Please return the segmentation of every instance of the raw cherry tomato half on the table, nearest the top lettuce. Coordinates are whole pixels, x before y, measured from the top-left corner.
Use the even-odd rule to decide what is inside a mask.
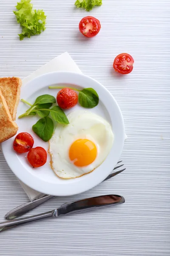
[[[86,37],[96,36],[101,29],[99,20],[92,16],[82,18],[79,23],[79,31]]]

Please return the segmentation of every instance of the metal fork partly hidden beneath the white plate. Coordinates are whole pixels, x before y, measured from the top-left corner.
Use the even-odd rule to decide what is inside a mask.
[[[121,162],[122,161],[119,161],[118,163],[121,163]],[[116,166],[113,170],[116,170],[116,169],[118,169],[118,168],[120,168],[122,166],[124,166],[124,164]],[[111,173],[110,175],[108,175],[107,178],[105,178],[105,180],[111,179],[112,177],[114,177],[114,176],[118,175],[119,173],[125,171],[125,169],[126,168],[124,168],[124,169],[122,169],[120,171]],[[105,181],[105,180],[103,180],[103,181]],[[36,199],[36,200],[28,202],[26,204],[22,204],[22,205],[20,205],[20,206],[18,206],[16,208],[12,209],[11,211],[7,212],[6,215],[5,215],[5,218],[6,218],[6,220],[11,220],[11,219],[17,218],[17,217],[25,214],[26,212],[29,212],[32,209],[36,208],[40,204],[45,203],[46,201],[48,201],[49,199],[51,199],[53,197],[54,197],[54,195],[45,195],[42,198]]]

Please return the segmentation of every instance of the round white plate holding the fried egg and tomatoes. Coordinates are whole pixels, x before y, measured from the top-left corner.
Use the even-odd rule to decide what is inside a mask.
[[[48,155],[47,163],[40,168],[32,168],[27,162],[27,153],[17,154],[13,150],[14,137],[2,143],[2,151],[8,163],[8,166],[17,177],[22,180],[26,185],[30,186],[39,192],[49,195],[68,196],[76,195],[93,188],[101,183],[113,170],[114,166],[121,156],[124,139],[125,129],[122,113],[116,100],[111,93],[102,86],[99,82],[91,79],[88,76],[71,72],[54,72],[48,73],[35,78],[28,82],[21,90],[21,99],[25,99],[31,104],[35,99],[42,94],[51,94],[57,96],[58,89],[48,89],[49,85],[62,84],[64,86],[72,86],[74,88],[82,89],[92,87],[99,95],[99,104],[89,111],[92,111],[100,116],[103,116],[110,122],[113,128],[114,143],[106,160],[93,172],[83,175],[82,177],[70,180],[63,180],[57,177],[52,171]],[[23,102],[19,103],[17,116],[21,115],[28,109],[28,106]],[[82,109],[81,106],[65,111],[66,114],[71,111]],[[34,138],[34,147],[42,146],[48,150],[48,143],[43,142],[32,131],[32,125],[38,120],[37,116],[25,117],[23,119],[16,119],[20,132],[28,132]]]

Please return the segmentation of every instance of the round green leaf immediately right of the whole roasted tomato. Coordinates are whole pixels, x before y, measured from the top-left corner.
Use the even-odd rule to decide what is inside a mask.
[[[83,108],[94,108],[99,103],[99,96],[93,88],[85,88],[79,92],[79,104]]]

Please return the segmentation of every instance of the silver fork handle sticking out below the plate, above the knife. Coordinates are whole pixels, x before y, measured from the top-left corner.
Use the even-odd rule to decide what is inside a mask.
[[[12,220],[14,218],[17,218],[26,212],[31,211],[32,209],[36,208],[40,204],[43,204],[44,202],[48,201],[49,199],[53,198],[53,195],[46,195],[42,198],[39,198],[37,200],[28,202],[26,204],[22,204],[15,209],[11,210],[10,212],[7,212],[5,215],[6,220]]]

